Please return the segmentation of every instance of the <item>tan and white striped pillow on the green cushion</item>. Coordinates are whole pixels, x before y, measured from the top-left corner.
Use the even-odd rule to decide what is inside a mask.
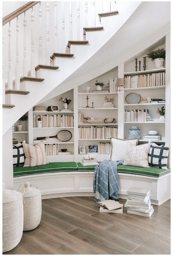
[[[40,141],[34,146],[23,143],[23,149],[26,157],[24,167],[48,164],[43,141]]]

